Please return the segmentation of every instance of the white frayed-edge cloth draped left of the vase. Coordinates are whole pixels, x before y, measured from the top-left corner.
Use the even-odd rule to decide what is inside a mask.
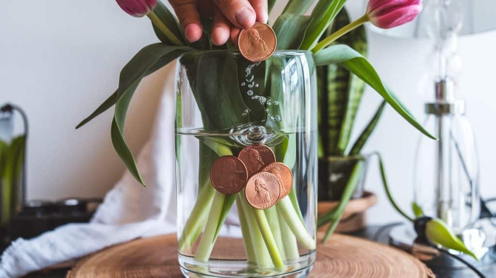
[[[114,244],[176,230],[174,64],[163,69],[166,87],[154,130],[138,156],[147,187],[126,171],[90,223],[67,224],[30,240],[12,242],[1,256],[0,278],[22,277]]]

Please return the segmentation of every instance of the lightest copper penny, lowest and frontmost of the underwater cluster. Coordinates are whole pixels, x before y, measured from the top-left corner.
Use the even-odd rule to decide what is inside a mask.
[[[259,172],[252,175],[245,188],[248,203],[255,209],[264,210],[272,207],[279,201],[281,185],[277,178],[268,172]]]

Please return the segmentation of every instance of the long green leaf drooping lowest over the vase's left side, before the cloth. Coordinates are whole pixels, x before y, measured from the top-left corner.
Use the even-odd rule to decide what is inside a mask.
[[[162,43],[152,44],[140,50],[121,71],[117,90],[118,101],[111,128],[112,143],[129,172],[143,185],[145,182],[141,178],[134,157],[124,140],[124,120],[127,108],[136,87],[148,71],[161,68],[186,50],[187,48],[184,47],[173,47]]]

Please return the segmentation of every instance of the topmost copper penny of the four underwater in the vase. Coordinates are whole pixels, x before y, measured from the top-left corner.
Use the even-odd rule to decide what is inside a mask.
[[[249,145],[241,150],[238,158],[243,161],[248,169],[248,176],[258,172],[263,167],[276,162],[276,156],[265,145]]]

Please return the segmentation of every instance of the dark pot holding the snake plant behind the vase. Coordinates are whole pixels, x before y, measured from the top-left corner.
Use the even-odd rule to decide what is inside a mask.
[[[348,183],[353,168],[359,161],[364,161],[361,177],[352,198],[364,194],[369,156],[326,157],[318,161],[318,201],[339,201]]]

